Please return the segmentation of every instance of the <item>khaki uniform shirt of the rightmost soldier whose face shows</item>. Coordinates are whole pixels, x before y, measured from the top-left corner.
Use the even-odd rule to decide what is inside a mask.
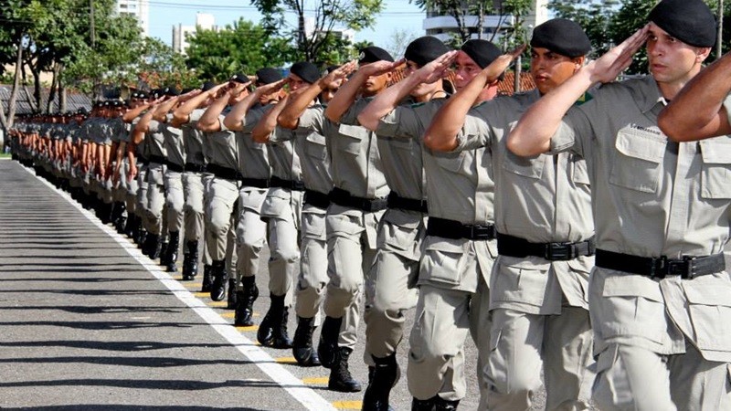
[[[669,142],[657,127],[665,100],[652,77],[607,84],[593,97],[567,113],[551,144],[587,159],[597,247],[641,257],[723,252],[731,138]],[[731,361],[726,271],[696,279],[610,269],[592,276],[597,352],[619,342],[683,353],[684,334],[705,359]]]

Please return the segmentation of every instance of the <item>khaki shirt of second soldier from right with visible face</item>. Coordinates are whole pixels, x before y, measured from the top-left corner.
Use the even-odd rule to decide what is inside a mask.
[[[457,151],[488,146],[493,152],[495,226],[499,233],[532,243],[585,241],[594,235],[587,163],[576,153],[518,157],[507,133],[536,100],[538,90],[498,97],[471,109],[458,135]],[[588,273],[593,257],[550,261],[500,256],[493,274],[490,308],[559,314],[562,297],[588,309]]]

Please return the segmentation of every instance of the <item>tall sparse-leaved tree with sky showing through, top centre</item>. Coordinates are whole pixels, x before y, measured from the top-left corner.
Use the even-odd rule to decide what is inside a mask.
[[[334,33],[335,25],[354,30],[372,27],[383,10],[383,0],[251,0],[264,16],[262,26],[271,36],[287,39],[296,45],[290,61],[332,62],[340,58],[339,48],[347,42]],[[296,16],[296,26],[288,25],[285,15]],[[307,17],[313,19],[307,29]]]

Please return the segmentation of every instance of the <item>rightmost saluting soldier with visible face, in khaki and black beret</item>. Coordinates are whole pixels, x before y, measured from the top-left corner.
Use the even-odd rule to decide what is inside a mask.
[[[662,0],[650,23],[525,112],[521,156],[586,158],[597,232],[589,283],[601,409],[727,409],[731,279],[726,137],[669,142],[668,100],[702,68],[715,19],[700,0]],[[614,80],[644,43],[652,76]],[[574,102],[597,82],[593,100]]]

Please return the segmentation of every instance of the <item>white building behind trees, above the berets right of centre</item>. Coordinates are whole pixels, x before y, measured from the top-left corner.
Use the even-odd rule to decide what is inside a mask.
[[[500,0],[495,0],[495,3],[499,3]],[[471,37],[478,38],[479,26],[478,16],[465,16],[464,25],[470,28]],[[530,35],[530,28],[540,25],[541,23],[548,20],[548,0],[534,0],[532,11],[528,16],[525,16],[525,27],[529,29],[528,35]],[[484,16],[482,20],[482,38],[490,40],[493,38],[493,33],[497,32],[498,35],[494,41],[500,38],[500,32],[505,27],[514,25],[514,16]],[[429,9],[427,10],[427,18],[424,19],[423,28],[426,30],[428,36],[434,36],[442,41],[450,40],[452,34],[459,32],[459,26],[457,20],[452,16],[445,16],[439,12],[439,10]]]

